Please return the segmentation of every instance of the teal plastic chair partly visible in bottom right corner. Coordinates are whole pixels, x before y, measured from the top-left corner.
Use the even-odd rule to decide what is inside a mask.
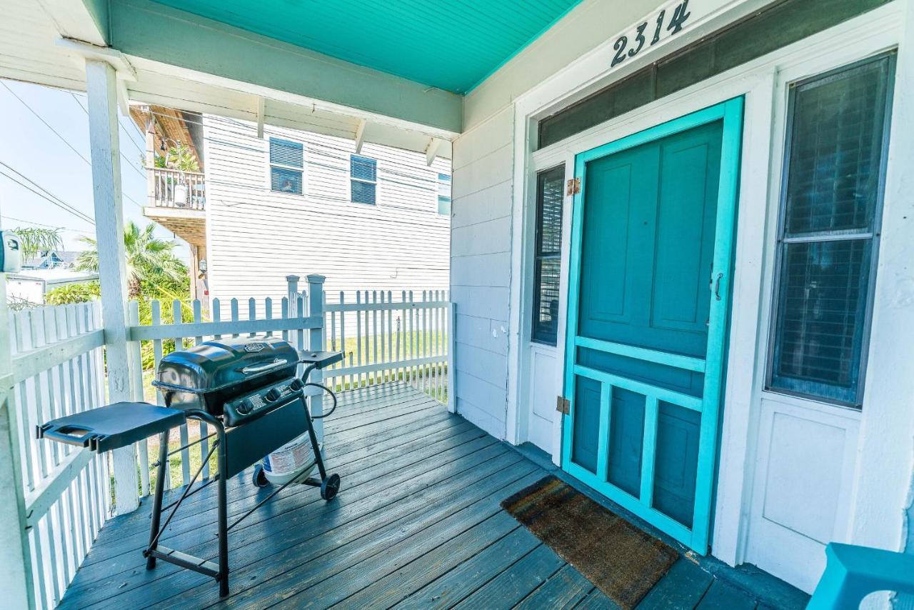
[[[858,608],[876,591],[914,594],[914,555],[832,542],[825,572],[806,610]]]

